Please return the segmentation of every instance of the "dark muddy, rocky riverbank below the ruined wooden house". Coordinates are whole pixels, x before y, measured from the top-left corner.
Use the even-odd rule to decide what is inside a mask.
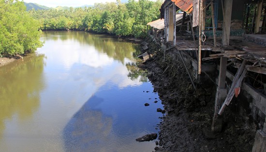
[[[139,67],[148,70],[167,111],[160,124],[160,144],[163,152],[250,152],[254,142],[256,122],[238,115],[234,106],[222,115],[220,132],[211,132],[216,86],[211,82],[196,83],[194,90],[175,50],[166,51],[147,39],[148,54],[153,57]],[[147,51],[147,50],[146,50]],[[236,104],[236,103],[233,103]]]

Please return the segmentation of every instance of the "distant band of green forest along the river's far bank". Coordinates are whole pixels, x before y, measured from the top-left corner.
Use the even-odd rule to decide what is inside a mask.
[[[147,23],[160,16],[163,0],[129,0],[95,3],[93,7],[67,10],[30,10],[42,30],[86,30],[120,36],[144,38]]]

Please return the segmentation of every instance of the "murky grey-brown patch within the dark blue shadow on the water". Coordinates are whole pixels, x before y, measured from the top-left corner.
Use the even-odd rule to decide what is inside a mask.
[[[92,110],[90,103],[100,104],[103,98],[91,97],[73,116],[63,131],[66,152],[100,152],[96,145],[112,140],[112,117],[102,111]]]

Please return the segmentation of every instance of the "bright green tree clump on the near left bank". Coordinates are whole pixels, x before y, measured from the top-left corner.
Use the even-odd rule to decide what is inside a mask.
[[[18,0],[0,0],[0,57],[24,54],[42,46],[39,22]]]

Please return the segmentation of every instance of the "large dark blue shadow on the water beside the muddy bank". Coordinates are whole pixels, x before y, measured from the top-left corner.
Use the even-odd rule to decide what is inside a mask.
[[[147,152],[155,143],[136,138],[157,132],[160,104],[145,107],[148,97],[158,97],[150,83],[124,89],[106,84],[77,111],[63,129],[66,152]]]

